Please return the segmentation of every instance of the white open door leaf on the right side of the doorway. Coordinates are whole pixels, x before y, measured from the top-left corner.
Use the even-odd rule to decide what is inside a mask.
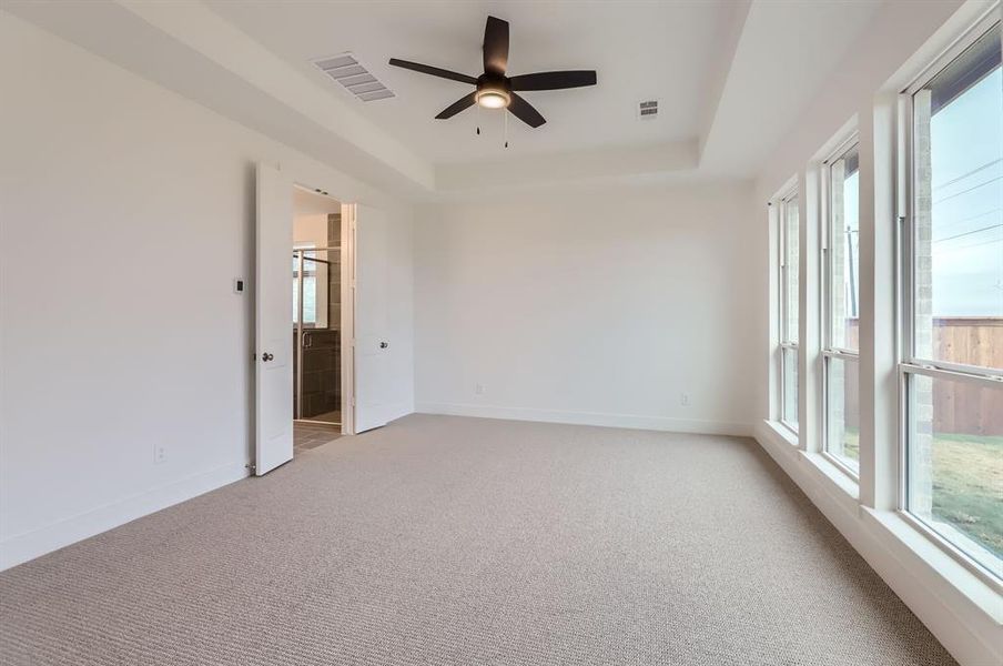
[[[376,209],[354,204],[355,232],[355,432],[389,421],[394,403],[388,332],[387,222]]]

